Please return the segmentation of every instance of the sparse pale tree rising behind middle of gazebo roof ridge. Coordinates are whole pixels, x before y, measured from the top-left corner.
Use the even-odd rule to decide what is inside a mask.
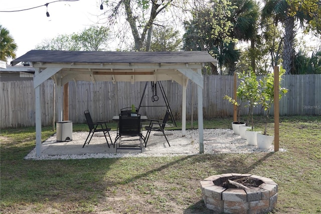
[[[157,26],[152,30],[151,51],[179,51],[181,50],[182,38],[180,32],[173,27]]]

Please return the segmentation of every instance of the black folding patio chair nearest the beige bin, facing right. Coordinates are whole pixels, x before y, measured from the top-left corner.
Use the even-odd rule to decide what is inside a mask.
[[[107,127],[107,121],[95,121],[95,122],[93,122],[88,110],[86,110],[84,112],[84,114],[85,114],[85,117],[86,117],[86,120],[87,120],[87,124],[88,124],[88,128],[89,128],[89,134],[88,134],[88,136],[86,138],[86,141],[85,141],[84,145],[82,146],[82,148],[84,148],[84,146],[86,144],[89,144],[89,142],[91,141],[91,138],[93,137],[94,133],[97,133],[97,132],[102,132],[104,134],[106,142],[107,142],[107,145],[108,145],[108,148],[110,148],[108,140],[107,140],[107,137],[106,137],[106,133],[108,133],[110,142],[112,144],[112,140],[111,140],[111,137],[110,137],[110,134],[109,134],[109,131],[111,129]],[[90,137],[89,141],[87,142],[90,134],[91,134],[91,137]]]

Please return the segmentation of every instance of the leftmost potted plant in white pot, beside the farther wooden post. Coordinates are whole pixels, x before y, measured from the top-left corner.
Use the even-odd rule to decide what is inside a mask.
[[[238,73],[238,78],[240,78],[240,74]],[[237,90],[236,90],[236,97],[239,101],[233,99],[232,97],[225,95],[223,98],[227,99],[229,102],[231,102],[232,104],[236,105],[237,108],[237,121],[233,121],[232,122],[232,129],[234,134],[236,135],[240,135],[240,131],[239,131],[239,127],[240,126],[245,126],[245,122],[241,122],[241,106],[242,106],[242,102],[243,99],[245,98],[244,96],[244,90],[243,90],[243,85],[239,85]]]

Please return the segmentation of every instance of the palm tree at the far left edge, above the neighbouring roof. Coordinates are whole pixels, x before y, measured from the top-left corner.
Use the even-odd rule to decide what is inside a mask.
[[[0,60],[7,61],[8,58],[16,58],[18,46],[10,32],[0,25]]]

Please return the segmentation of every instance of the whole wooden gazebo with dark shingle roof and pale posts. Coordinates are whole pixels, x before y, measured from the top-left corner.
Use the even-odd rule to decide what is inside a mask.
[[[31,62],[35,68],[36,153],[41,156],[40,85],[52,78],[57,85],[58,121],[63,120],[63,86],[69,81],[162,81],[172,80],[183,87],[182,135],[186,133],[186,89],[188,80],[197,84],[200,153],[203,145],[203,75],[205,63],[216,65],[206,51],[181,52],[94,52],[31,50],[13,60]],[[67,84],[68,85],[68,84]],[[66,106],[65,106],[66,108]]]

